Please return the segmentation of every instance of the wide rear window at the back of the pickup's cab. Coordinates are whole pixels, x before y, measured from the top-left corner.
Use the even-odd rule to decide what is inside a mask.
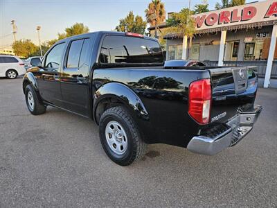
[[[159,43],[138,37],[107,35],[103,40],[102,64],[161,64],[163,53]]]

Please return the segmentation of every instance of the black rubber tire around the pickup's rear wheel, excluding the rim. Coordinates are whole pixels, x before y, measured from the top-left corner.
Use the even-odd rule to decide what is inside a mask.
[[[114,150],[111,149],[106,139],[105,130],[108,123],[112,121],[119,123],[127,135],[127,148],[122,155],[114,153]],[[141,159],[145,153],[147,144],[141,138],[134,119],[132,119],[132,116],[127,112],[125,107],[111,107],[102,114],[99,122],[99,135],[102,147],[109,158],[120,166],[132,164],[132,162]]]

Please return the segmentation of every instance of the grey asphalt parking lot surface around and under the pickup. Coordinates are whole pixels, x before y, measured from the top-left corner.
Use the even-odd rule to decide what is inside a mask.
[[[276,207],[277,89],[237,146],[213,157],[163,144],[122,167],[98,126],[48,107],[31,115],[21,78],[0,79],[0,207]]]

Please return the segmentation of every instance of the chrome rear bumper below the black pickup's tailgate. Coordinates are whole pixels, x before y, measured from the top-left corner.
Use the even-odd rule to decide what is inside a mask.
[[[224,148],[238,144],[252,130],[261,111],[262,106],[260,105],[254,105],[251,112],[240,111],[224,124],[224,131],[220,134],[193,137],[188,143],[188,150],[193,153],[215,155]]]

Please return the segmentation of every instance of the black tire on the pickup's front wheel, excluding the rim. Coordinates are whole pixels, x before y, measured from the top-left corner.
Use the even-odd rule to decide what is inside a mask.
[[[30,105],[30,103],[28,101],[29,94],[31,94],[33,96],[33,105]],[[33,89],[32,85],[26,86],[25,99],[26,99],[26,105],[31,114],[39,115],[39,114],[44,114],[46,112],[46,106],[39,102],[39,99],[37,98],[37,93],[35,92],[35,89]]]

